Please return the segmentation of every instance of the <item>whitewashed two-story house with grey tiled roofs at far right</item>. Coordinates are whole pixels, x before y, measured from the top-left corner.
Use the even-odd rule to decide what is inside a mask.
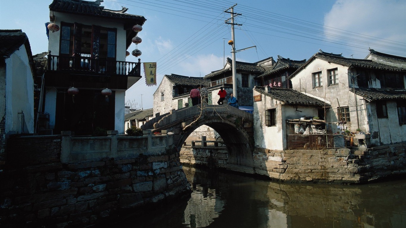
[[[289,79],[295,90],[330,103],[325,120],[337,129],[363,131],[373,145],[405,142],[406,58],[374,50],[367,58],[320,50]]]

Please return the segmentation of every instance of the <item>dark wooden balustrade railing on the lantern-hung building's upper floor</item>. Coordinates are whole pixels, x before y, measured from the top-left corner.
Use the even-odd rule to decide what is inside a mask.
[[[90,54],[54,56],[48,54],[48,71],[71,71],[104,75],[127,75],[140,77],[141,62],[125,62],[91,58]]]

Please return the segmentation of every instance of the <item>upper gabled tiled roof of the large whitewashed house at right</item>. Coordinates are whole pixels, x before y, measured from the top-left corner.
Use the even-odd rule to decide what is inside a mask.
[[[333,62],[339,65],[347,66],[347,67],[360,67],[360,68],[367,68],[367,69],[379,69],[385,71],[406,71],[406,68],[400,67],[393,67],[389,65],[385,65],[382,63],[374,62],[368,59],[356,59],[356,58],[344,58],[337,54],[326,54],[325,52],[317,52],[314,54],[307,62],[302,65],[299,69],[297,69],[291,77],[294,77],[298,72],[300,72],[304,67],[309,65],[310,62],[315,60],[315,58],[320,58],[322,60],[326,60],[327,62]]]

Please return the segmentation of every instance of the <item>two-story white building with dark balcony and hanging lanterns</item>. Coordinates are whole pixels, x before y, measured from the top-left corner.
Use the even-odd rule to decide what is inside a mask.
[[[44,113],[54,134],[89,135],[99,127],[123,134],[125,90],[140,79],[127,49],[146,21],[84,0],[50,4]],[[134,27],[134,29],[133,29]]]

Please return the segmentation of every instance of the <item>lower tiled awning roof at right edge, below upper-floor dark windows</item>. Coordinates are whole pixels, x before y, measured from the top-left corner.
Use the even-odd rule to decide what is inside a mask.
[[[351,91],[354,91],[351,89]],[[355,88],[356,95],[364,97],[368,101],[375,100],[406,100],[406,90],[389,90],[377,88]]]

